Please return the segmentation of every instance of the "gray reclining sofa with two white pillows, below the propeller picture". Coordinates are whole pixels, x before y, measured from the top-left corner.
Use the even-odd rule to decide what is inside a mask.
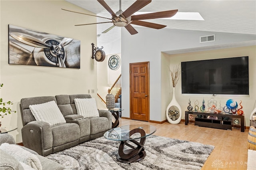
[[[98,110],[100,117],[84,118],[78,115],[74,99],[92,98],[90,95],[56,95],[30,97],[20,100],[22,117],[22,143],[25,147],[42,156],[70,148],[87,140],[103,136],[112,128],[112,114]],[[29,105],[55,101],[66,123],[50,126],[49,123],[36,121]]]

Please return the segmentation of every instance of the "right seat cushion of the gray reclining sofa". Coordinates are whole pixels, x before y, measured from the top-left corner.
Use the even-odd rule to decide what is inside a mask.
[[[97,134],[108,130],[108,118],[92,117],[90,118],[91,134]]]

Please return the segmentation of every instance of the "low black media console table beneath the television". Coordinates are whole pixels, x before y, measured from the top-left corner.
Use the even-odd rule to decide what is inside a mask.
[[[202,117],[195,117],[195,126],[200,127],[210,127],[210,128],[219,128],[219,129],[232,129],[232,118],[240,119],[240,129],[241,132],[244,132],[244,116],[243,115],[233,115],[233,114],[216,114],[216,113],[204,113],[204,112],[193,112],[185,111],[185,125],[188,125],[188,115],[202,115]],[[208,116],[216,116],[217,120],[207,119]],[[229,119],[224,119],[228,117]]]

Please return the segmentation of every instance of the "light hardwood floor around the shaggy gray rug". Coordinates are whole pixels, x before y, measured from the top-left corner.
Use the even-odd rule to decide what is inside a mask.
[[[202,170],[246,170],[247,169],[247,138],[248,129],[221,130],[214,128],[196,127],[194,123],[180,122],[177,125],[168,122],[163,124],[148,123],[130,119],[120,119],[119,126],[124,125],[154,125],[157,130],[154,135],[176,138],[209,144],[215,146],[206,160]],[[220,162],[221,167],[214,167],[212,163]],[[256,169],[256,168],[255,168]]]

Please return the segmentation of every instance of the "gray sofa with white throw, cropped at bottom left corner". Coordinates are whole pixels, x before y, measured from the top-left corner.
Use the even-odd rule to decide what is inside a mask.
[[[4,134],[0,134],[0,145],[2,143],[15,144],[15,140],[12,135],[8,133],[4,133]],[[58,164],[57,162],[54,162],[48,158],[45,158],[44,156],[37,154],[33,150],[30,150],[23,146],[20,146],[20,147],[38,157],[42,165],[42,170],[50,170],[50,169],[64,170],[65,169],[65,167],[62,166],[61,164]],[[0,160],[1,160],[0,170],[24,170],[22,164],[14,156],[8,154],[7,152],[1,149],[0,149]],[[65,169],[65,170],[68,170],[68,169]]]

